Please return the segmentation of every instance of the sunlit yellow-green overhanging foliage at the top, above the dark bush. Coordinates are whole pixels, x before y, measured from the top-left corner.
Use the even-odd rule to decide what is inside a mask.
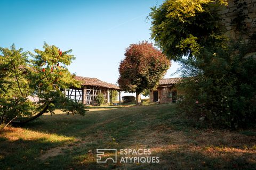
[[[213,32],[221,31],[217,11],[226,4],[210,0],[165,1],[151,8],[151,38],[171,60],[196,55],[202,46],[212,43],[209,37]]]

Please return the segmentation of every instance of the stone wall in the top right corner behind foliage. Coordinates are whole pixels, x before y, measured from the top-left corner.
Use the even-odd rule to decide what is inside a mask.
[[[243,13],[246,16],[246,19],[243,20],[243,22],[246,25],[245,28],[247,31],[237,31],[234,20],[237,18],[237,9],[239,10],[239,8],[237,8],[234,0],[228,0],[228,6],[221,8],[218,13],[221,15],[222,25],[226,28],[225,35],[233,40],[242,38],[247,43],[251,40],[251,36],[256,31],[256,0],[238,1],[238,3],[243,2],[245,2]],[[255,49],[253,50],[253,52],[256,52]]]

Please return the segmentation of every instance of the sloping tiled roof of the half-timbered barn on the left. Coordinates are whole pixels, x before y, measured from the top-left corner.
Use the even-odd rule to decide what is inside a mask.
[[[101,81],[97,78],[86,78],[81,76],[75,76],[75,79],[78,81],[81,81],[83,86],[97,86],[97,87],[105,87],[111,90],[120,90],[118,86],[107,83],[105,81]]]

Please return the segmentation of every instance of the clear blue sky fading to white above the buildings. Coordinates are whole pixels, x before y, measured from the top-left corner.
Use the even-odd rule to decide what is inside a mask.
[[[73,49],[71,73],[116,83],[130,44],[150,40],[150,7],[162,1],[0,1],[0,46],[33,51],[43,42]],[[154,42],[153,42],[154,43]],[[177,69],[172,64],[165,75]],[[175,77],[175,76],[174,76]],[[177,77],[177,75],[176,75]]]

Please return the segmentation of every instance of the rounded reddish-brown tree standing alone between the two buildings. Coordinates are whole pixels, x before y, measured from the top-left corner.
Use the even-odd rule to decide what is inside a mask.
[[[136,103],[140,94],[152,89],[169,69],[170,61],[160,50],[147,41],[131,44],[125,50],[125,58],[119,65],[118,84],[126,92],[136,92]]]

